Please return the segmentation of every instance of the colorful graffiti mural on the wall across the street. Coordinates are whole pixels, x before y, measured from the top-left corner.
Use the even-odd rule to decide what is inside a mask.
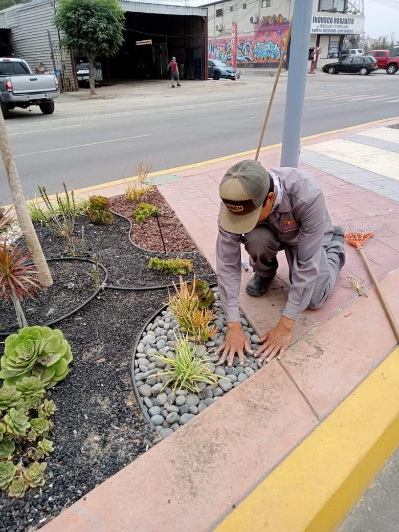
[[[284,48],[288,26],[285,16],[264,16],[255,26],[254,35],[238,35],[237,63],[277,62]],[[208,58],[231,61],[231,39],[210,39]]]

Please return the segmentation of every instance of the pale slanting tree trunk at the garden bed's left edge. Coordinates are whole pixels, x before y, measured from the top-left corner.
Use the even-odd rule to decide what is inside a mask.
[[[53,279],[50,270],[41,249],[39,239],[37,238],[35,228],[29,216],[28,205],[26,204],[21,181],[19,179],[18,170],[16,169],[15,161],[12,156],[9,136],[5,127],[3,114],[0,111],[0,152],[3,157],[3,163],[7,179],[9,180],[10,191],[16,217],[20,223],[23,236],[25,237],[29,251],[32,254],[32,261],[37,269],[37,276],[42,286],[52,286]]]

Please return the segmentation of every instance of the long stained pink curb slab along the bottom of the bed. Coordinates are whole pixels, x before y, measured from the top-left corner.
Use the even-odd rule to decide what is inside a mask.
[[[43,532],[213,529],[316,424],[273,361],[64,510]]]

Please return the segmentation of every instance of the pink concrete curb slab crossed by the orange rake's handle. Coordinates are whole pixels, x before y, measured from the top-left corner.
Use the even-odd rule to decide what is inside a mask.
[[[399,271],[381,283],[399,318]],[[345,331],[345,334],[343,334]],[[331,412],[396,345],[375,290],[310,332],[281,360],[320,418]],[[334,346],[334,348],[332,348]]]

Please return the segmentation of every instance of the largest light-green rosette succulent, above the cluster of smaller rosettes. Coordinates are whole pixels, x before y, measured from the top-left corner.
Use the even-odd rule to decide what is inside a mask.
[[[72,359],[71,346],[60,329],[24,327],[5,339],[0,379],[12,386],[24,377],[37,377],[44,389],[52,388],[68,375]],[[22,394],[29,395],[28,384],[26,390],[19,386]]]

